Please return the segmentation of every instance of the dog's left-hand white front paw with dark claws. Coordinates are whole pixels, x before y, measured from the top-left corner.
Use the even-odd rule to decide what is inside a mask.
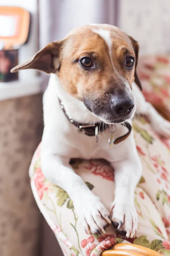
[[[74,204],[78,218],[88,234],[101,232],[105,234],[105,227],[111,224],[109,212],[94,194]]]

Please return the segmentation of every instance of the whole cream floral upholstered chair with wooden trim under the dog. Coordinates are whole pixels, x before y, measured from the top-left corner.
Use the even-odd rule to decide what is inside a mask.
[[[170,120],[170,57],[141,59],[139,74],[146,99]],[[143,166],[135,192],[138,231],[133,239],[118,236],[112,225],[104,236],[85,233],[69,195],[42,175],[41,145],[37,148],[30,166],[32,191],[65,256],[96,256],[103,251],[103,255],[170,256],[170,140],[159,138],[144,118],[133,121],[133,130]],[[74,160],[72,166],[109,209],[114,197],[111,166],[99,160]]]

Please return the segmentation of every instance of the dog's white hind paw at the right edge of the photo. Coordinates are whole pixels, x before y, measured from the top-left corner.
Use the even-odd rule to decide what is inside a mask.
[[[152,128],[153,130],[159,134],[161,137],[164,137],[166,139],[170,138],[170,122],[168,122],[164,118],[160,118],[158,122],[157,120],[154,120],[152,122]]]

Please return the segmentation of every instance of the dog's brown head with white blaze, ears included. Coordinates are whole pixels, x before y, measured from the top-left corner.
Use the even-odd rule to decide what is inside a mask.
[[[132,82],[142,90],[136,73],[138,51],[138,43],[117,27],[87,25],[48,44],[11,72],[31,68],[55,73],[65,91],[94,115],[119,123],[132,118],[136,109]]]

